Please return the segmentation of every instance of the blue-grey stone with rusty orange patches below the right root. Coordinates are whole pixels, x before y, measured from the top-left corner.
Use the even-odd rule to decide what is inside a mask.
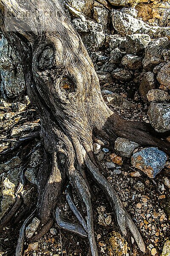
[[[167,156],[158,148],[144,148],[131,157],[133,167],[144,172],[148,177],[154,178],[167,161]]]

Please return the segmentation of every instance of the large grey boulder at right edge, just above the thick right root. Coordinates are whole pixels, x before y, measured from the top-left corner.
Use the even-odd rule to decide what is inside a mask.
[[[170,131],[170,104],[151,102],[147,114],[156,131]]]

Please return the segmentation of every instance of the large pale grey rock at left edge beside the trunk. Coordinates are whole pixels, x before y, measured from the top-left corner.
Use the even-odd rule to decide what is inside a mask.
[[[6,38],[0,40],[0,91],[4,97],[14,98],[26,91],[23,70]]]

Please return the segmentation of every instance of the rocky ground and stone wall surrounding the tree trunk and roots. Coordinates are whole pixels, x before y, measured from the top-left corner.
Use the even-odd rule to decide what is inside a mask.
[[[170,2],[67,0],[65,9],[91,55],[107,105],[123,118],[147,122],[170,141]],[[24,207],[0,236],[0,255],[14,255],[20,227],[34,208],[42,159],[40,119],[28,99],[22,67],[5,38],[0,40],[0,219],[17,201],[20,178]],[[2,152],[6,151],[6,154]],[[104,175],[141,231],[146,253],[116,227],[114,212],[91,181],[99,255],[170,255],[170,162],[157,148],[118,138],[115,151],[94,143]],[[88,177],[90,180],[90,177]],[[73,218],[62,195],[63,212]],[[78,198],[74,198],[79,207]],[[27,228],[36,232],[39,220]],[[88,243],[57,225],[24,255],[87,255]]]

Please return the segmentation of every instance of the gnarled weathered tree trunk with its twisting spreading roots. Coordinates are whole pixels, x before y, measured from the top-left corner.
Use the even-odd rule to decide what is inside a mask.
[[[13,15],[5,25],[10,28],[12,24],[15,31],[7,31],[4,23],[1,30],[20,58],[28,96],[41,119],[45,151],[38,175],[36,215],[44,224],[40,234],[48,231],[56,213],[60,226],[82,236],[87,232],[91,253],[98,255],[87,169],[111,198],[122,233],[126,236],[128,228],[144,251],[139,231],[115,190],[101,174],[93,143],[99,139],[113,147],[117,137],[125,137],[141,145],[158,146],[167,153],[169,144],[156,137],[159,134],[154,135],[150,125],[125,121],[107,107],[91,58],[59,0],[39,0],[38,4],[30,0],[27,5],[19,0],[1,0],[0,7],[3,22],[4,8]],[[29,17],[26,15],[28,7],[31,9]],[[85,221],[73,207],[74,202],[68,199],[82,227],[62,221],[59,215],[59,197],[66,177],[86,207]],[[17,251],[21,251],[18,248]]]

